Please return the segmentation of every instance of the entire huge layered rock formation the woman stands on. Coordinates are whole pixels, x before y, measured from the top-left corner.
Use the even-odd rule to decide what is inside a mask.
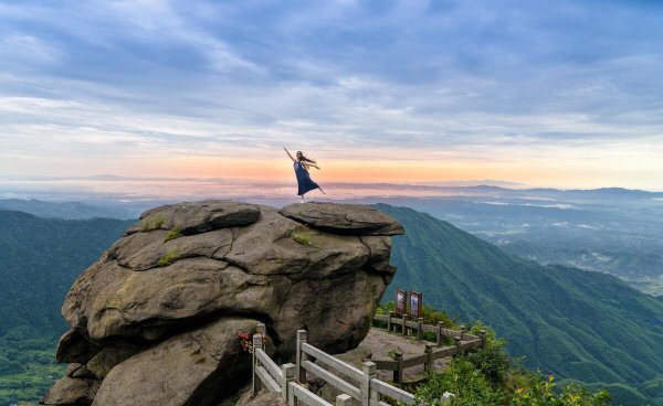
[[[239,332],[267,328],[290,360],[295,331],[329,352],[359,344],[396,269],[393,218],[365,205],[281,211],[230,201],[150,210],[72,286],[66,376],[48,405],[217,405],[250,377]]]

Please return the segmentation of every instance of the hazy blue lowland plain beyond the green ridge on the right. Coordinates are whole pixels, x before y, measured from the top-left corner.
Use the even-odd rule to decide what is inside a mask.
[[[614,275],[663,296],[663,200],[660,193],[472,189],[441,197],[369,197],[429,213],[502,249],[540,264]]]

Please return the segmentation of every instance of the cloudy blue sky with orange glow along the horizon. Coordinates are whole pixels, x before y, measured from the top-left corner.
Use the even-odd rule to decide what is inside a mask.
[[[2,1],[0,177],[663,186],[663,1]]]

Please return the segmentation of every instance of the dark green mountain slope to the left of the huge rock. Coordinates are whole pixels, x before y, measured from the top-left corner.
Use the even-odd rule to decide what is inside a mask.
[[[38,330],[49,328],[54,334],[62,333],[64,321],[57,300],[64,297],[77,273],[92,264],[129,223],[112,218],[44,218],[0,210],[0,278],[9,287],[8,295],[0,297],[2,336],[11,328],[24,325],[21,319],[30,319],[29,324]],[[21,297],[21,292],[29,293],[31,300]],[[23,307],[12,298],[21,299]],[[34,306],[40,301],[42,309]]]

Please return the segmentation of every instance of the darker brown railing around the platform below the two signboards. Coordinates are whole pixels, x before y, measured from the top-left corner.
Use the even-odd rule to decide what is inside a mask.
[[[423,364],[424,370],[428,370],[435,360],[462,354],[466,350],[482,348],[486,342],[484,330],[481,330],[478,335],[473,335],[469,334],[463,325],[461,325],[460,331],[455,331],[445,329],[442,322],[438,322],[438,325],[424,324],[423,318],[409,320],[407,314],[397,317],[393,312],[376,314],[373,320],[387,322],[389,332],[400,331],[402,335],[414,335],[418,340],[423,340],[427,332],[435,334],[434,346],[433,344],[425,344],[423,354],[403,356],[402,352],[396,351],[393,360],[373,360],[378,370],[393,371],[393,382],[397,384],[402,384],[403,370],[406,368]],[[444,336],[453,338],[454,345],[444,346]]]

